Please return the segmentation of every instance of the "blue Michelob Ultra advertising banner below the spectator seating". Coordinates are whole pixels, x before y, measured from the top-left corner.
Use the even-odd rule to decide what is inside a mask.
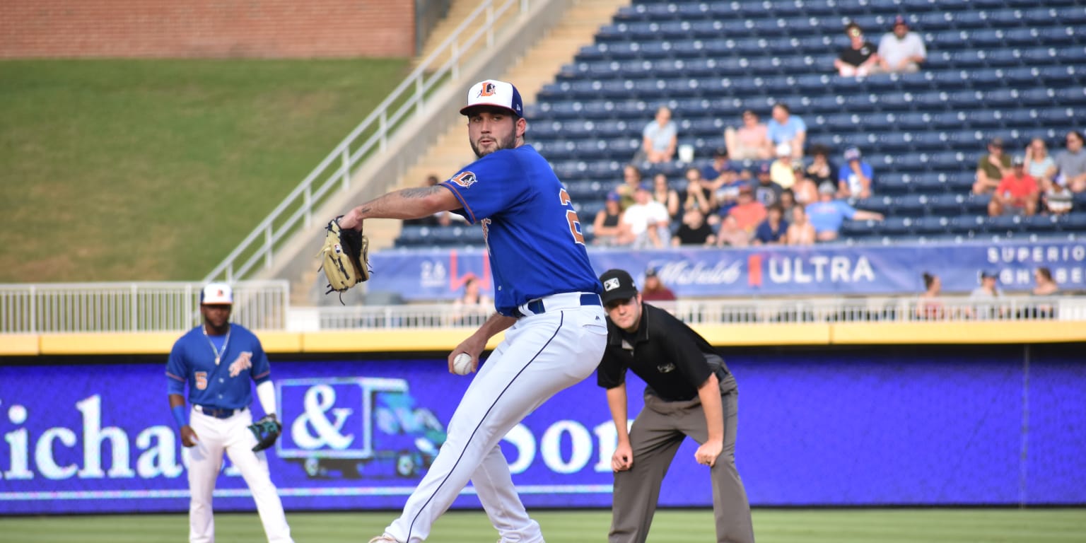
[[[968,293],[981,272],[999,275],[1005,290],[1030,290],[1033,270],[1046,266],[1064,290],[1086,288],[1086,243],[1072,241],[895,245],[681,248],[624,251],[590,248],[597,274],[623,268],[635,279],[655,267],[680,298],[797,294],[917,294],[924,272],[938,275],[946,293]],[[485,251],[383,251],[371,256],[367,288],[407,301],[456,298],[464,281],[481,279],[492,291]],[[523,263],[530,266],[530,262]]]

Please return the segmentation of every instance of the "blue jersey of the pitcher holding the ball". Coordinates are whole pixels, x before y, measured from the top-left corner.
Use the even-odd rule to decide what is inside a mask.
[[[518,305],[560,292],[599,292],[569,193],[531,146],[490,153],[442,184],[482,223],[494,276],[494,305]]]

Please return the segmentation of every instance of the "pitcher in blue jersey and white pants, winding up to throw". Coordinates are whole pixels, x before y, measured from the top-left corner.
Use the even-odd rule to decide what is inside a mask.
[[[449,422],[441,452],[403,514],[370,543],[424,541],[434,520],[471,481],[503,542],[540,543],[498,442],[556,392],[598,365],[607,341],[599,282],[581,223],[554,171],[525,144],[528,122],[517,89],[488,79],[468,89],[468,140],[476,162],[435,187],[390,192],[341,217],[416,218],[453,211],[480,224],[490,253],[496,313],[449,355],[472,368],[494,334],[505,338],[479,368]]]

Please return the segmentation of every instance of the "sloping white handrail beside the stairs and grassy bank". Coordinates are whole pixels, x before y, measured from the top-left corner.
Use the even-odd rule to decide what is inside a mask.
[[[352,173],[363,160],[384,151],[389,140],[413,112],[421,114],[427,97],[445,81],[459,77],[472,48],[485,39],[493,46],[494,23],[519,7],[528,11],[529,0],[482,0],[441,45],[430,53],[358,126],[313,168],[215,268],[204,281],[233,281],[249,277],[256,266],[270,267],[281,241],[313,223],[313,211],[324,204],[334,189],[349,190]],[[472,30],[469,33],[469,30]],[[441,65],[435,65],[445,59]],[[390,110],[395,108],[390,113]]]

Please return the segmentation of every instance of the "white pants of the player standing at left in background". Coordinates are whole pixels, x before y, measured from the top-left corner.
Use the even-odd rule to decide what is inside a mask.
[[[212,491],[223,468],[223,451],[241,471],[241,477],[253,493],[256,512],[264,525],[269,543],[293,543],[290,527],[282,512],[282,502],[268,475],[264,451],[253,452],[256,437],[249,431],[253,415],[249,409],[235,413],[229,418],[215,418],[198,409],[189,415],[189,425],[197,432],[195,446],[189,450],[189,541],[214,543],[215,518],[212,512]]]

